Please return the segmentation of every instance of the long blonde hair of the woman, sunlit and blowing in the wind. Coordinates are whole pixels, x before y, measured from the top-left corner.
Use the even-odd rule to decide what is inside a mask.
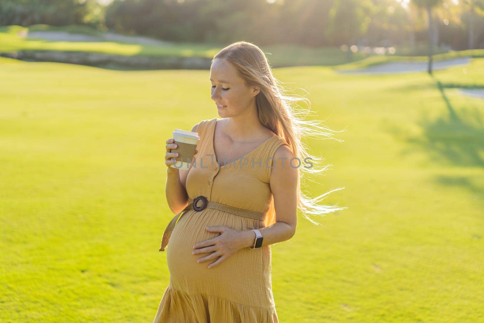
[[[271,66],[264,52],[259,47],[244,41],[236,42],[220,50],[213,57],[212,63],[217,58],[225,59],[231,63],[236,68],[238,75],[245,80],[246,84],[260,88],[260,92],[256,96],[259,122],[283,138],[294,154],[294,157],[299,158],[299,160],[303,160],[302,156],[305,156],[304,158],[311,157],[316,161],[313,165],[318,164],[318,161],[324,160],[324,158],[318,158],[317,156],[309,154],[309,149],[302,142],[302,138],[315,136],[317,138],[326,137],[335,139],[332,137],[332,133],[339,131],[333,131],[325,126],[318,125],[317,121],[304,120],[305,115],[303,115],[303,111],[295,103],[301,100],[310,103],[309,100],[301,96],[287,94],[288,91],[283,87],[283,82],[277,80],[272,75]],[[304,114],[307,115],[307,112]],[[343,141],[340,139],[335,140]],[[302,167],[302,169],[308,173],[318,173],[326,170],[328,166],[333,165],[327,165],[322,169],[314,169],[313,167]],[[299,168],[301,169],[301,167]],[[309,214],[324,215],[346,209],[346,207],[337,207],[335,205],[318,204],[321,198],[344,187],[333,189],[312,199],[301,190],[301,175],[300,173],[297,183],[297,208],[299,208],[305,218],[319,225],[320,223],[311,219]],[[274,201],[271,198],[271,207],[266,214],[264,224],[270,226],[275,222]]]

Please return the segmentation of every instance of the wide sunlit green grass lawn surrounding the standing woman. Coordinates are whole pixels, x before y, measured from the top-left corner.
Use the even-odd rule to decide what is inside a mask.
[[[280,322],[482,322],[484,100],[456,88],[484,87],[484,59],[467,71],[275,69],[347,127],[307,141],[333,166],[304,189],[345,186],[323,202],[348,209],[272,245]],[[0,59],[1,322],[152,322],[165,141],[218,117],[208,78]]]

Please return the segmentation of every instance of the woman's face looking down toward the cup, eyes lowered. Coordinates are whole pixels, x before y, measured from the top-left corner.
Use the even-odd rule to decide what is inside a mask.
[[[215,59],[210,68],[212,82],[212,100],[215,101],[220,116],[235,116],[244,110],[255,108],[255,96],[260,91],[249,87],[242,77],[237,75],[235,67],[226,59]]]

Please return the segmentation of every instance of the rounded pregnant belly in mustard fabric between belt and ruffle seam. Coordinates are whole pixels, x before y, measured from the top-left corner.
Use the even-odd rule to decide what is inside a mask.
[[[270,285],[270,246],[257,249],[244,247],[212,268],[208,268],[208,265],[218,257],[197,262],[198,259],[210,255],[213,251],[193,255],[193,245],[218,237],[219,232],[209,232],[205,229],[218,226],[245,231],[260,229],[264,224],[259,220],[213,209],[185,212],[175,225],[166,248],[170,284],[190,294],[220,294],[221,288],[227,288],[227,294],[231,294],[230,286],[239,280],[248,287],[253,286],[252,284]],[[254,291],[248,288],[246,292],[250,294]]]

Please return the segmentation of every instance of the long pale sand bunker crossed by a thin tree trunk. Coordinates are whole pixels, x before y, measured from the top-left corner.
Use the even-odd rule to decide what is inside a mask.
[[[458,57],[450,60],[433,61],[432,69],[440,70],[450,66],[469,64],[471,57]],[[426,72],[428,62],[390,62],[369,66],[364,69],[339,71],[348,74],[392,74],[407,72]]]

